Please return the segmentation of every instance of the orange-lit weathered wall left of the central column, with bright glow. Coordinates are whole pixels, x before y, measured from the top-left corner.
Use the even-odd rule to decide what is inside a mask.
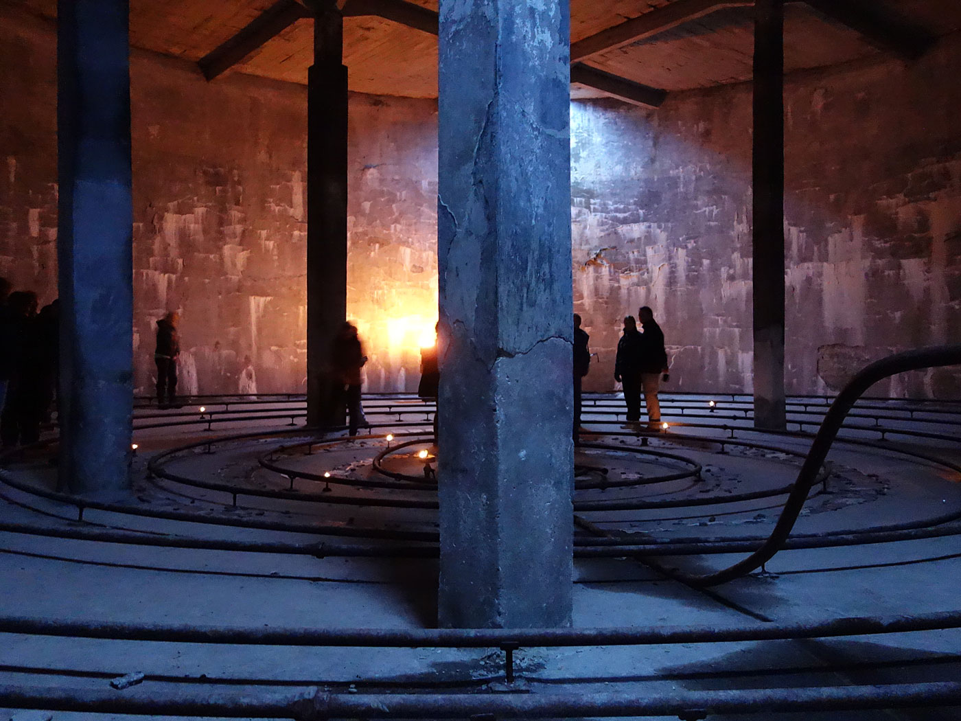
[[[0,275],[57,294],[53,28],[0,12]],[[155,321],[181,311],[184,393],[306,383],[306,88],[132,53],[136,389]],[[15,100],[14,100],[15,99]],[[436,320],[436,104],[351,100],[349,313],[368,389],[416,387]]]

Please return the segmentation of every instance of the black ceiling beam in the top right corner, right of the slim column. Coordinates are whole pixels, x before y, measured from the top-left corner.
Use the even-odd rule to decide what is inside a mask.
[[[937,37],[910,18],[885,8],[878,0],[806,0],[816,11],[847,25],[877,49],[906,60],[920,58]]]

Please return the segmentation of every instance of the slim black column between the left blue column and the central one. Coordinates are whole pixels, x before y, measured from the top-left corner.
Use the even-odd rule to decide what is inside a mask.
[[[308,7],[314,25],[308,69],[307,410],[308,425],[318,426],[344,422],[342,409],[333,415],[328,409],[328,360],[333,336],[347,318],[347,67],[336,4],[313,0]]]

